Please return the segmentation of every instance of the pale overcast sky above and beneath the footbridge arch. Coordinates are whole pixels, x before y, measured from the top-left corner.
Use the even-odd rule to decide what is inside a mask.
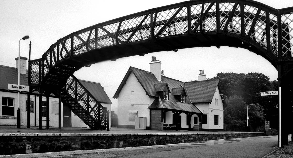
[[[18,42],[21,40],[21,56],[28,57],[29,41],[32,41],[31,59],[38,59],[58,39],[70,33],[139,11],[179,3],[183,0],[0,0],[0,64],[15,67]],[[292,0],[257,0],[276,9],[293,6]],[[242,48],[197,47],[178,52],[156,52],[147,55],[125,57],[93,64],[74,73],[79,79],[100,82],[117,111],[117,100],[112,97],[130,66],[149,71],[151,56],[162,62],[167,77],[180,81],[197,80],[200,69],[207,78],[220,72],[260,72],[277,79],[277,70],[260,55]]]

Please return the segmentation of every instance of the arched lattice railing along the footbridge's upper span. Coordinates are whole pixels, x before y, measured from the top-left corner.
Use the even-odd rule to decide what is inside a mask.
[[[282,18],[285,14],[292,13],[293,7],[275,9],[251,0],[205,0],[204,4],[204,16],[200,13],[203,6],[202,0],[194,0],[153,8],[103,23],[98,23],[60,38],[42,55],[41,61],[39,61],[38,64],[36,64],[37,62],[35,60],[32,60],[30,64],[35,63],[36,65],[42,65],[42,69],[39,70],[42,74],[39,79],[42,81],[49,72],[49,69],[54,67],[55,64],[68,57],[78,56],[84,52],[113,45],[167,38],[168,36],[175,35],[200,33],[199,19],[203,17],[205,19],[214,18],[217,20],[222,18],[222,24],[218,24],[216,21],[217,25],[211,24],[212,22],[210,21],[205,21],[203,24],[206,25],[206,33],[210,31],[223,31],[231,33],[231,35],[234,36],[242,38],[247,37],[258,42],[262,47],[268,49],[268,52],[275,54],[275,56],[278,56],[279,49],[282,47],[291,49],[291,45],[288,46],[283,44],[283,46],[277,46],[277,44],[280,45],[278,40],[282,40],[282,38],[275,37],[274,33],[280,31],[281,29],[277,30],[277,26],[286,23],[287,20],[285,19],[279,24],[277,22],[279,16]],[[221,8],[219,8],[220,5],[226,7],[226,9],[221,10]],[[245,8],[245,6],[250,7]],[[247,10],[247,13],[250,13],[249,16],[245,15],[245,9]],[[217,14],[221,15],[217,16]],[[244,21],[245,16],[247,18],[246,21]],[[251,19],[250,16],[257,18]],[[267,16],[268,18],[265,18]],[[232,17],[238,17],[238,21]],[[257,21],[258,17],[263,17],[263,20]],[[241,26],[239,24],[240,19],[242,22],[245,22],[248,27],[244,25]],[[267,19],[270,21],[266,22]],[[176,28],[175,24],[182,26],[181,28]],[[231,27],[231,25],[234,26]],[[252,25],[253,29],[251,29],[252,27],[249,28],[249,25]],[[258,30],[254,30],[254,27],[257,25],[260,25],[258,26]],[[262,28],[267,25],[270,25],[270,27]],[[287,28],[284,26],[284,30],[287,31],[288,34],[291,33],[288,26]],[[273,33],[266,35],[265,32],[267,31],[272,31]],[[290,35],[287,39],[287,43],[290,43],[292,37],[293,35]],[[270,41],[266,41],[266,38],[269,38]],[[290,52],[284,52],[282,55],[289,53]],[[36,71],[36,65],[31,66],[32,72],[38,72]],[[39,83],[34,81],[31,82],[31,84]]]

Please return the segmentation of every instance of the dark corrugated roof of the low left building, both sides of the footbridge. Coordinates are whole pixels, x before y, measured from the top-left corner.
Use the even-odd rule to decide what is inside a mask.
[[[28,74],[28,71],[27,71]],[[79,80],[82,85],[101,103],[112,104],[110,98],[105,93],[99,83]],[[0,90],[8,90],[8,83],[18,84],[18,71],[15,67],[0,65]],[[20,84],[28,86],[28,76],[20,74]]]

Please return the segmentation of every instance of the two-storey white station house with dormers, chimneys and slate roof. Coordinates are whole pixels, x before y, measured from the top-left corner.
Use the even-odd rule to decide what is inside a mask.
[[[113,98],[118,99],[118,127],[151,130],[224,130],[225,103],[219,80],[166,77],[152,57],[150,71],[130,67]]]

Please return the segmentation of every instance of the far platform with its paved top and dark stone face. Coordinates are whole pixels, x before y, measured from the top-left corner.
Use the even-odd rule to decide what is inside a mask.
[[[0,154],[26,154],[119,147],[166,145],[184,142],[262,136],[259,132],[157,131],[112,128],[110,131],[89,128],[20,129],[0,126]]]

